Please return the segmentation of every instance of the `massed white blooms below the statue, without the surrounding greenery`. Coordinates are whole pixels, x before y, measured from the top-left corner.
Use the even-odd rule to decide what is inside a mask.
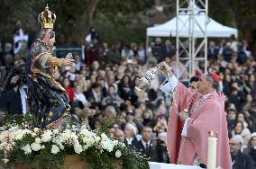
[[[118,145],[125,147],[123,143],[108,138],[105,133],[97,136],[95,132],[86,129],[86,126],[82,126],[80,129],[75,127],[75,129],[65,129],[63,131],[59,129],[41,130],[38,128],[20,129],[12,127],[0,133],[0,151],[4,152],[2,161],[5,164],[9,162],[8,155],[14,150],[15,141],[22,140],[25,135],[34,138],[34,142],[21,147],[24,155],[30,155],[32,151],[36,152],[45,148],[45,143],[52,143],[50,151],[52,154],[58,154],[59,151],[65,148],[65,145],[73,147],[77,154],[81,154],[88,147],[96,147],[101,152],[104,150],[113,152],[114,147]],[[119,158],[122,153],[120,150],[116,150],[114,155]]]

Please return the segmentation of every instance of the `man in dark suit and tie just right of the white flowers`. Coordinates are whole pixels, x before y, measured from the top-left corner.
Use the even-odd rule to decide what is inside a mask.
[[[142,151],[143,155],[150,157],[150,161],[157,161],[157,152],[155,144],[151,140],[152,129],[151,127],[144,127],[142,129],[142,139],[137,142],[135,148],[137,151]]]

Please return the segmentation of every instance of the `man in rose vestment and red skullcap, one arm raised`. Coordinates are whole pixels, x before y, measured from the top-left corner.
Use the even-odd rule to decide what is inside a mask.
[[[213,130],[217,133],[216,167],[231,169],[224,97],[216,92],[219,76],[214,72],[202,75],[198,92],[192,93],[165,63],[160,69],[170,75],[160,90],[173,99],[167,136],[170,163],[206,165],[208,131]]]

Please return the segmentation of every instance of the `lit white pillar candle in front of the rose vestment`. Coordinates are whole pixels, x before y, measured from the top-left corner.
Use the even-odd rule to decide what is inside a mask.
[[[217,138],[214,136],[214,131],[208,132],[208,153],[207,153],[207,169],[216,168],[216,149]]]

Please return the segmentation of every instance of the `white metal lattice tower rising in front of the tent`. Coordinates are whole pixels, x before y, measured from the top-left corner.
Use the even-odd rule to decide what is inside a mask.
[[[205,73],[207,70],[208,0],[177,0],[176,12],[175,73],[180,81],[187,82],[196,71]],[[199,14],[205,15],[203,25],[197,19]],[[199,69],[202,63],[205,67],[203,71]]]

